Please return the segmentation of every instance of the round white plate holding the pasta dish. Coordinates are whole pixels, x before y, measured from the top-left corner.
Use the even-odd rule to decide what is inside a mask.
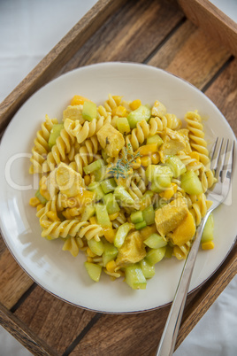
[[[28,157],[45,114],[61,120],[73,95],[103,104],[109,93],[123,95],[126,100],[140,98],[143,104],[158,99],[168,112],[180,118],[187,111],[198,109],[208,118],[204,127],[209,143],[217,136],[235,139],[226,119],[208,97],[187,81],[163,70],[132,63],[103,63],[76,69],[30,97],[6,129],[0,150],[1,228],[19,265],[45,290],[73,305],[99,312],[134,313],[172,301],[183,262],[173,258],[158,263],[156,275],[149,280],[146,290],[131,290],[122,279],[111,282],[104,274],[100,282],[92,282],[83,266],[84,255],[73,258],[69,252],[61,251],[61,241],[42,238],[35,210],[28,205],[38,188],[38,180],[28,174]],[[215,212],[216,247],[198,253],[189,290],[209,278],[226,258],[236,234],[236,210],[237,188],[233,184],[228,201]]]

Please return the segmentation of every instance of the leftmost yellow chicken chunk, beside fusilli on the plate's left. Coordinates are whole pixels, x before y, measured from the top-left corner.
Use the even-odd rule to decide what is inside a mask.
[[[76,172],[65,163],[60,163],[56,170],[56,182],[59,190],[66,197],[75,197],[80,194],[80,188],[84,187],[80,173]]]

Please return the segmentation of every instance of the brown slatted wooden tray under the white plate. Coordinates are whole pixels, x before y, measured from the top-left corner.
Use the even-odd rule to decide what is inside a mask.
[[[0,105],[0,134],[36,89],[78,66],[134,61],[164,68],[210,97],[237,132],[233,52],[186,18],[173,1],[100,0]],[[237,245],[187,298],[176,347],[236,274]],[[93,313],[35,284],[0,237],[0,322],[35,355],[149,355],[169,306],[140,314]],[[202,341],[201,341],[202,343]]]

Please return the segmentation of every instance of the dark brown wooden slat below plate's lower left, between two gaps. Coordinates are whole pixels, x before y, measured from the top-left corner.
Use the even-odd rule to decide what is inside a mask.
[[[71,306],[36,287],[14,315],[52,350],[62,354],[96,313]]]

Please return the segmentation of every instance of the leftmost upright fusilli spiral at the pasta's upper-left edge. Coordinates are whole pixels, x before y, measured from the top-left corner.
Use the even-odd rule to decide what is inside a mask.
[[[29,173],[41,173],[42,163],[45,161],[48,152],[50,151],[49,137],[50,130],[53,125],[57,124],[57,119],[50,119],[48,115],[45,116],[45,121],[42,123],[42,129],[37,131],[36,138],[34,139],[34,148],[32,149],[32,157],[30,161],[32,166],[30,166]]]

